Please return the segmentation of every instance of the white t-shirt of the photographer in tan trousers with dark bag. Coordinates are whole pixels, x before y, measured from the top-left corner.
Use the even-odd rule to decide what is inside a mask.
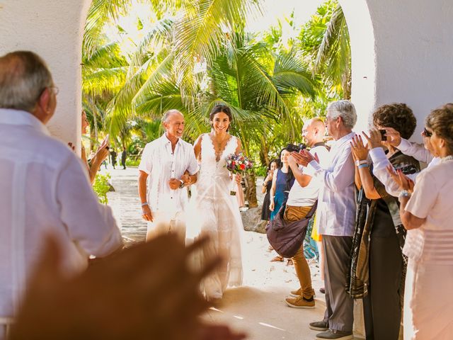
[[[310,149],[310,153],[319,157],[321,167],[328,166],[328,149],[322,145]],[[304,172],[304,166],[299,166],[299,169]],[[308,186],[302,188],[297,180],[294,181],[291,190],[289,191],[287,205],[292,207],[311,207],[318,199],[319,188],[322,181],[319,178],[312,177]]]

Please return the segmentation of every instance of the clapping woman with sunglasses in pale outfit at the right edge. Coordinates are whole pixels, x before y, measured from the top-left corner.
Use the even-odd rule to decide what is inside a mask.
[[[453,339],[453,106],[432,111],[425,131],[439,162],[415,184],[389,168],[402,189],[401,222],[408,230],[404,339]]]

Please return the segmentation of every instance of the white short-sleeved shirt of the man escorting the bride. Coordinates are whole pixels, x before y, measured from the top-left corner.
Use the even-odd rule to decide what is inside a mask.
[[[149,175],[148,204],[151,211],[180,212],[188,203],[187,190],[171,190],[170,179],[180,179],[187,170],[190,175],[198,171],[193,146],[178,139],[174,152],[166,135],[144,147],[139,170]]]

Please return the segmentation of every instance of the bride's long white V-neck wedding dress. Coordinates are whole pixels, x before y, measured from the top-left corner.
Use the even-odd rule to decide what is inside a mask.
[[[222,297],[227,286],[241,285],[241,232],[243,225],[236,196],[231,196],[233,183],[226,170],[226,157],[234,154],[237,139],[231,136],[225,149],[216,160],[214,145],[209,135],[202,135],[200,172],[190,200],[190,217],[187,223],[189,239],[200,234],[210,236],[210,241],[195,256],[197,266],[221,254],[224,263],[217,267],[202,283],[208,299]],[[237,186],[236,186],[237,187]]]

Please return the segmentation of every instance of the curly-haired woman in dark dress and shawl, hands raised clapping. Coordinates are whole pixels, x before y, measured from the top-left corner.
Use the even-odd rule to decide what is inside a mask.
[[[380,106],[372,120],[374,128],[392,128],[405,140],[412,136],[417,125],[411,108],[404,103]],[[389,163],[406,173],[420,171],[420,164],[382,140],[376,129],[370,133],[371,137],[364,134],[367,147],[360,136],[351,142],[359,195],[348,293],[363,298],[367,339],[397,340],[407,264],[402,252],[406,230],[399,218],[397,198],[387,193],[384,184],[372,175],[368,150],[384,147]]]

